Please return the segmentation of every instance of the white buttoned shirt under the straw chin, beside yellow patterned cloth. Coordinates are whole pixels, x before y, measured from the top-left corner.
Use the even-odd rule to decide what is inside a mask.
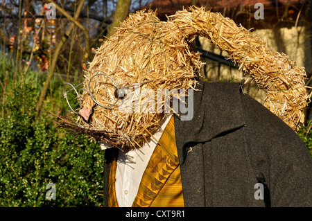
[[[157,141],[159,141],[166,125],[170,121],[171,115],[164,118],[161,127],[157,132],[153,134],[154,138],[148,139],[148,142],[144,143],[141,148],[123,152],[119,150],[116,169],[116,198],[120,207],[132,206],[139,185],[141,183],[142,175],[150,161]],[[102,150],[110,148],[107,143],[100,143]]]

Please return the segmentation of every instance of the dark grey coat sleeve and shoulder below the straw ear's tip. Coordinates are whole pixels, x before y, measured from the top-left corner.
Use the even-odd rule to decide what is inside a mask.
[[[312,206],[312,157],[299,136],[266,107],[241,95],[246,142],[270,206]]]

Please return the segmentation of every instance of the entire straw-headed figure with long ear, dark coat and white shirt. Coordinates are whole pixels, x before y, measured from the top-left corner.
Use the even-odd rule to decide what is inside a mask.
[[[264,105],[239,84],[198,80],[198,35],[266,91]],[[165,22],[139,11],[97,49],[82,93],[73,87],[78,120],[60,125],[105,149],[105,206],[311,206],[312,161],[294,132],[305,77],[219,13],[190,8]]]

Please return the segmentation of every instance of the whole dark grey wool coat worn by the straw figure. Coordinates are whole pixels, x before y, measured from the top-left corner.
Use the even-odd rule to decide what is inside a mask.
[[[191,121],[175,116],[184,205],[312,206],[312,158],[291,127],[239,84],[196,89]],[[105,152],[105,206],[112,151]]]

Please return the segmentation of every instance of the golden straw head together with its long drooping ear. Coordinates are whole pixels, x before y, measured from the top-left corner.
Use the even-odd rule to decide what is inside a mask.
[[[140,89],[189,89],[196,83],[200,70],[200,53],[193,51],[193,40],[204,36],[227,51],[231,60],[250,75],[266,91],[264,105],[279,116],[293,130],[304,122],[302,110],[309,102],[304,87],[304,68],[296,67],[287,55],[270,50],[257,35],[237,26],[233,20],[205,8],[177,11],[168,21],[159,21],[155,12],[144,10],[130,14],[116,33],[97,49],[94,60],[85,71],[84,88],[103,105],[114,103],[114,82],[119,87],[147,82]],[[92,76],[105,73],[105,76]],[[246,80],[248,82],[248,80]],[[81,96],[83,108],[91,108],[94,101],[88,91]],[[139,100],[136,100],[139,99]],[[154,97],[135,96],[133,103],[146,103]],[[97,106],[90,124],[79,120],[83,127],[64,119],[62,124],[78,133],[123,147],[138,148],[159,128],[163,112],[144,110],[120,112],[119,100],[112,107]],[[66,123],[67,122],[67,123]]]

